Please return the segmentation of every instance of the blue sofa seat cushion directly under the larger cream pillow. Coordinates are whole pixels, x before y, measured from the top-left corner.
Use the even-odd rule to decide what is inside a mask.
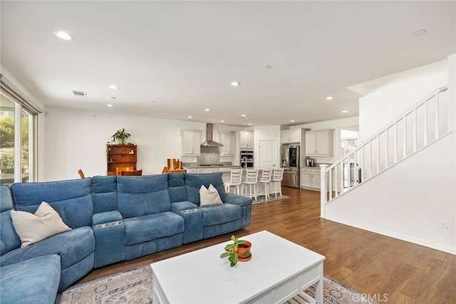
[[[41,242],[18,248],[1,255],[1,266],[36,258],[41,255],[58,254],[62,269],[86,258],[95,250],[95,237],[91,227],[80,227],[51,236]]]

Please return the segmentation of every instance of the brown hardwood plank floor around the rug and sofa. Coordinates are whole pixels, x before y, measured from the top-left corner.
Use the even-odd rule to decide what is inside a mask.
[[[283,192],[291,198],[254,204],[251,225],[234,234],[269,230],[325,255],[326,275],[381,303],[456,303],[456,255],[323,220],[319,192],[287,187]],[[78,283],[217,244],[230,235],[95,269]]]

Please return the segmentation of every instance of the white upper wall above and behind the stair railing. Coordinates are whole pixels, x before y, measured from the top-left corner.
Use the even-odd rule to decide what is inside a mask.
[[[385,128],[436,88],[447,86],[447,78],[444,60],[354,86],[353,91],[368,93],[359,101],[359,141]]]

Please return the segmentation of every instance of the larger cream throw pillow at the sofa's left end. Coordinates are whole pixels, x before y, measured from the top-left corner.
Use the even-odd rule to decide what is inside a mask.
[[[35,214],[11,210],[11,220],[17,235],[21,239],[21,248],[38,243],[52,235],[71,230],[63,223],[57,211],[46,202],[41,203]]]

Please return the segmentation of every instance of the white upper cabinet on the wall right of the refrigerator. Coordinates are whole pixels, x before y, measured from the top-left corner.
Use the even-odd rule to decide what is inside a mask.
[[[307,131],[306,156],[333,156],[333,130]]]

